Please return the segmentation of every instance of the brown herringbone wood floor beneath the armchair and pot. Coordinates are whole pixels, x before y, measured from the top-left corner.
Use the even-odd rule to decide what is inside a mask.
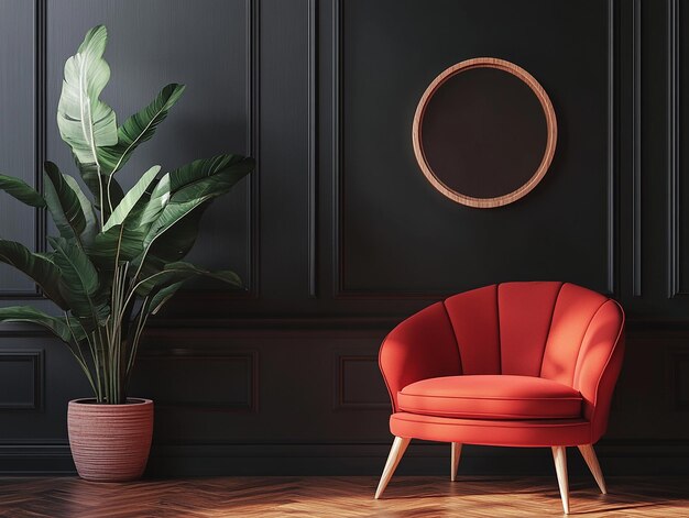
[[[572,515],[689,517],[689,478],[570,482]],[[0,478],[8,518],[145,517],[548,517],[561,516],[553,477],[394,477],[380,500],[376,477],[222,477],[94,484],[76,477]]]

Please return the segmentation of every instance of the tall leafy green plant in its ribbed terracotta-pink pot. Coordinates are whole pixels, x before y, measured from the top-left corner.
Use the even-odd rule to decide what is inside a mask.
[[[94,390],[68,406],[77,471],[91,481],[125,481],[142,475],[153,430],[153,403],[127,395],[146,320],[197,275],[241,285],[232,272],[208,272],[183,258],[206,208],[253,170],[254,161],[219,155],[165,174],[156,165],[123,192],[116,174],[153,136],[185,87],[166,86],[118,128],[114,111],[99,99],[110,78],[102,58],[107,38],[105,26],[91,29],[67,59],[57,108],[61,136],[91,196],[51,162],[42,194],[0,175],[0,189],[47,209],[58,232],[46,253],[0,240],[0,262],[34,279],[62,313],[7,307],[0,322],[40,324],[67,344]]]

